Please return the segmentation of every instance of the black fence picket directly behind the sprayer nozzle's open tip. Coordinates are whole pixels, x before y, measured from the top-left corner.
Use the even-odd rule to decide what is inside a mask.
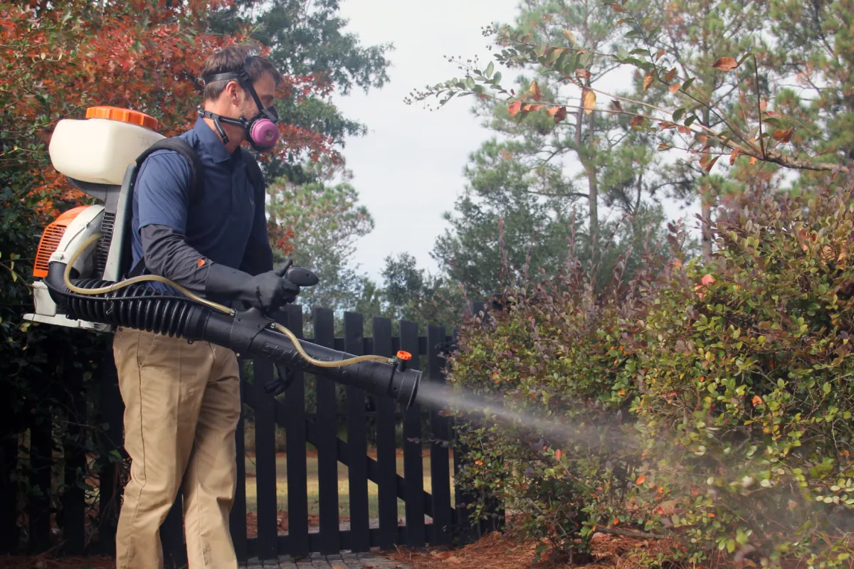
[[[418,366],[418,324],[401,320],[401,350],[412,354],[408,365]],[[413,404],[403,415],[403,479],[406,484],[407,545],[424,546],[424,465],[421,447],[421,405]]]

